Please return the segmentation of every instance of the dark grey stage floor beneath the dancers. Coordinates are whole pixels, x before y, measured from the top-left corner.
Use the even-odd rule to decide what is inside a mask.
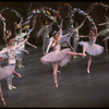
[[[2,90],[5,107],[72,107],[101,108],[109,107],[109,53],[104,52],[93,58],[90,73],[86,66],[88,57],[73,59],[58,73],[59,88],[53,84],[52,64],[44,65],[41,47],[27,47],[29,53],[24,55],[25,68],[16,71],[22,78],[14,77],[16,89],[9,90],[5,80]],[[0,107],[4,107],[0,101]]]

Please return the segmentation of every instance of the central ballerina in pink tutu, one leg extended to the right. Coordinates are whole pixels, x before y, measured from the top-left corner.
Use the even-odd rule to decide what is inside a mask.
[[[59,32],[62,29],[60,27]],[[48,63],[53,63],[53,78],[55,78],[55,86],[58,88],[58,82],[57,82],[57,71],[58,66],[64,66],[71,59],[71,56],[83,56],[85,57],[86,55],[84,53],[76,53],[76,52],[71,52],[70,48],[61,50],[61,46],[59,44],[59,40],[61,37],[59,36],[58,33],[55,33],[53,35],[53,44],[51,47],[53,47],[53,51],[45,55],[40,60],[44,64]]]

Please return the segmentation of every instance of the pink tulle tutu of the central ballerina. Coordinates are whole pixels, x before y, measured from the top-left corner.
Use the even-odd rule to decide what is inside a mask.
[[[65,65],[70,59],[71,56],[68,55],[68,51],[71,51],[69,48],[60,50],[60,51],[51,51],[44,56],[40,60],[44,64],[52,63],[52,62],[59,62],[60,66]]]

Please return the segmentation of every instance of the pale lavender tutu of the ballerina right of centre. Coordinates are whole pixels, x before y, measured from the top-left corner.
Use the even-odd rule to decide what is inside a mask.
[[[104,47],[94,44],[90,45],[89,41],[80,41],[81,46],[85,46],[86,52],[90,56],[97,56],[104,52]]]

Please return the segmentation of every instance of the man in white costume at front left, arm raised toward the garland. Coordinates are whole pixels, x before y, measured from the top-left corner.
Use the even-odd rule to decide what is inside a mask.
[[[8,55],[8,65],[4,66],[4,69],[11,70],[12,72],[15,73],[16,49],[19,47],[21,47],[22,45],[24,45],[28,38],[29,38],[29,35],[27,35],[27,38],[24,41],[20,43],[19,45],[15,45],[15,46],[12,46],[12,44],[14,41],[13,39],[10,39],[10,38],[7,39],[8,46],[0,51],[0,55],[2,55],[2,53]],[[11,75],[7,78],[9,89],[16,88],[15,86],[12,85],[12,78],[13,78],[13,75]]]

